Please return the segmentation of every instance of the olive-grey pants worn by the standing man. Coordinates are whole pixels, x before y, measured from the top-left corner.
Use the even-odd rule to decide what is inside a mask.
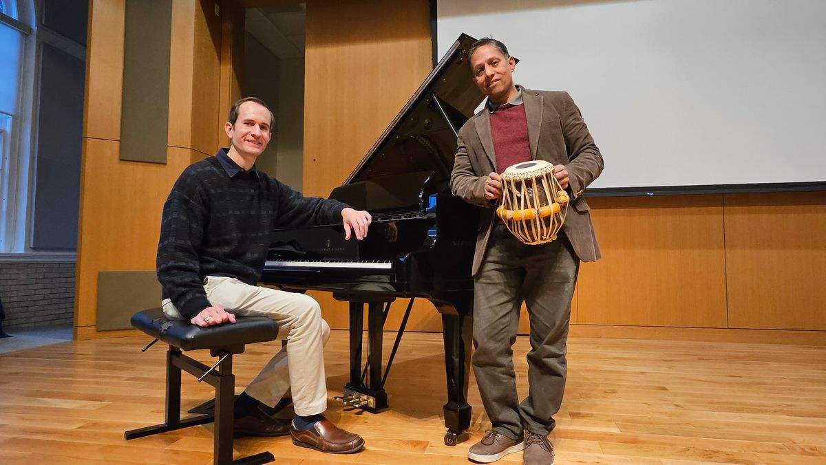
[[[523,429],[548,434],[562,405],[567,333],[579,259],[565,235],[526,245],[494,225],[474,277],[472,365],[493,429],[520,439]],[[512,346],[522,302],[530,319],[528,396],[519,401]]]

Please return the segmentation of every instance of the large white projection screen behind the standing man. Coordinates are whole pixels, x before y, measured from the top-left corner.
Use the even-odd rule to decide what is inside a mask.
[[[436,20],[439,53],[492,36],[516,83],[571,94],[597,192],[826,186],[824,0],[438,0]]]

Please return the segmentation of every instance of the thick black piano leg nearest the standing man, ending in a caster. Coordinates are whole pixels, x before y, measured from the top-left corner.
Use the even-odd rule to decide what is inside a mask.
[[[444,444],[454,446],[465,439],[470,427],[468,375],[473,334],[472,316],[442,314],[444,368],[448,377],[448,403],[444,404]]]

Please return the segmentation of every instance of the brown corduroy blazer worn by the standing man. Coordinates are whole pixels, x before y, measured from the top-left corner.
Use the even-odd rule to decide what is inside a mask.
[[[563,230],[571,240],[577,257],[585,262],[600,259],[600,247],[590,206],[582,192],[600,175],[603,168],[600,149],[594,144],[591,133],[579,108],[565,92],[534,91],[522,88],[525,116],[528,122],[528,142],[531,159],[546,160],[550,164],[563,164],[570,181],[571,207],[568,208]],[[485,179],[496,171],[496,154],[491,138],[491,113],[487,105],[482,112],[472,116],[458,134],[458,149],[453,162],[450,188],[453,194],[473,205],[482,206],[477,230],[476,253],[473,256],[472,273],[476,275],[491,235],[494,208],[498,204],[485,199]]]

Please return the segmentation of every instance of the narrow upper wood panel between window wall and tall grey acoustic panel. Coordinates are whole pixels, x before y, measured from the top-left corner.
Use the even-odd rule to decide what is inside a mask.
[[[83,137],[121,139],[126,0],[89,2]]]

